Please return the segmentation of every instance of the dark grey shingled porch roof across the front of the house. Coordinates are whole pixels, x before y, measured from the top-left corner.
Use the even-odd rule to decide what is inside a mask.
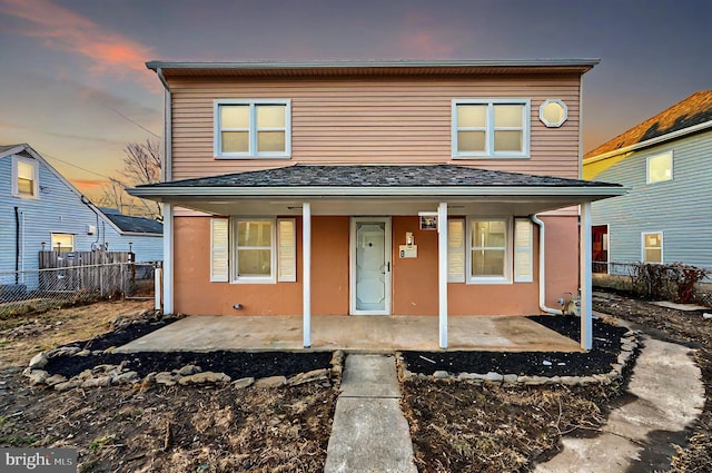
[[[465,166],[295,165],[137,186],[161,187],[620,187],[616,184],[477,169]]]

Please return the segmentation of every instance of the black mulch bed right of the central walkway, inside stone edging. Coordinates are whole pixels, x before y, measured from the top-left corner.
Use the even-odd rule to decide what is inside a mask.
[[[533,316],[531,319],[578,339],[581,319],[568,316]],[[593,321],[593,349],[589,353],[558,352],[404,352],[408,369],[431,375],[490,372],[530,376],[587,376],[604,374],[616,363],[621,336],[627,328]]]

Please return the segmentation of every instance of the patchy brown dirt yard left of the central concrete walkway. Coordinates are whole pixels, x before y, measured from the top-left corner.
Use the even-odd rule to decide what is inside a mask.
[[[34,353],[125,327],[148,308],[98,303],[1,321],[0,446],[73,447],[80,472],[323,471],[338,394],[334,387],[135,385],[56,392],[30,386],[22,376]],[[247,362],[231,359],[234,376],[247,363],[253,372],[246,375],[255,368],[261,375],[293,368],[288,355],[258,361],[247,355]],[[71,369],[68,363],[56,367]],[[148,369],[146,363],[141,367]]]

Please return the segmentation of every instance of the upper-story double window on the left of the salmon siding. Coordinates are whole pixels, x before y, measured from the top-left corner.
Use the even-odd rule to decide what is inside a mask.
[[[215,156],[220,158],[289,157],[289,100],[215,101]]]

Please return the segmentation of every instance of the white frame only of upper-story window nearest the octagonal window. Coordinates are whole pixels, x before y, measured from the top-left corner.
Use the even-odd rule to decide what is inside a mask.
[[[485,150],[458,151],[457,132],[467,131],[469,128],[459,127],[457,124],[457,107],[461,105],[487,106],[485,124]],[[494,151],[494,107],[497,105],[520,105],[522,110],[522,127],[497,128],[497,130],[522,130],[522,151]],[[496,99],[453,99],[452,102],[452,155],[453,158],[530,158],[530,137],[532,128],[532,100],[527,98],[496,98]],[[477,128],[479,129],[479,128]]]

